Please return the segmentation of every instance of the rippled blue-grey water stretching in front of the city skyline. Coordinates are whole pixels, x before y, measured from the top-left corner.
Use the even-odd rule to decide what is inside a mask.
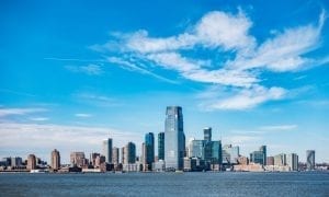
[[[319,196],[328,172],[0,174],[0,196]]]

